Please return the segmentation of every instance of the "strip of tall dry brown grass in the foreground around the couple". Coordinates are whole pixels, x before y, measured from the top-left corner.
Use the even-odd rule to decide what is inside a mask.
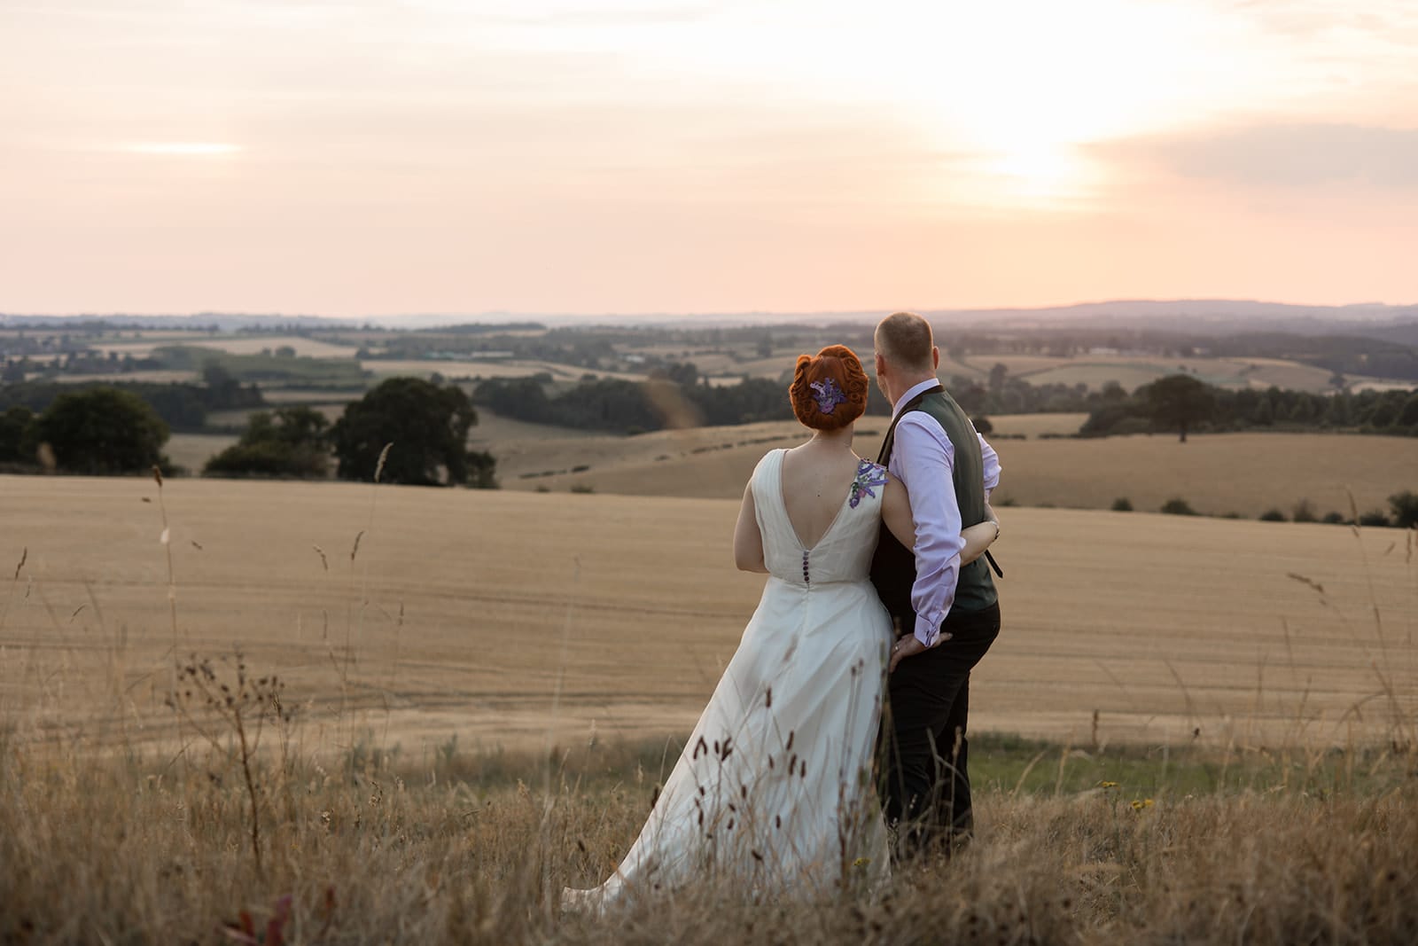
[[[654,779],[523,762],[469,781],[389,757],[259,770],[268,854],[231,753],[99,759],[0,743],[0,939],[567,943],[1409,943],[1414,773],[1383,791],[1133,798],[1098,787],[984,793],[978,837],[888,892],[753,902],[706,885],[605,918],[560,915],[598,882]],[[620,776],[620,780],[617,780]],[[529,784],[532,787],[529,787]],[[244,916],[245,915],[245,916]],[[257,936],[238,937],[245,922]],[[271,936],[271,923],[281,939]],[[233,929],[235,928],[235,929]],[[230,932],[227,932],[230,930]]]

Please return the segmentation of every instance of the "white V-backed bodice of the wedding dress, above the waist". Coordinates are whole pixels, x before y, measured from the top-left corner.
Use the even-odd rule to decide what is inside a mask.
[[[783,457],[769,451],[753,471],[753,505],[763,535],[763,563],[790,584],[811,587],[832,581],[862,581],[872,564],[881,526],[881,498],[886,469],[864,460],[842,496],[832,525],[813,547],[804,547],[783,502]]]

